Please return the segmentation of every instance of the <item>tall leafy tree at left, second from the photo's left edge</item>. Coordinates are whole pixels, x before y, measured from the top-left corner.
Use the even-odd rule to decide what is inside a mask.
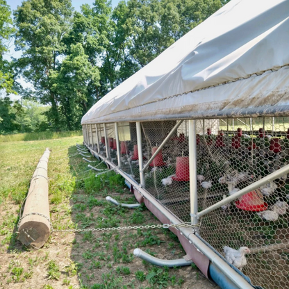
[[[56,130],[61,125],[60,99],[52,88],[51,76],[61,66],[63,38],[69,31],[72,10],[70,0],[26,0],[14,13],[15,46],[23,52],[17,65],[26,81],[33,84],[35,96],[42,104],[51,106],[48,117]]]

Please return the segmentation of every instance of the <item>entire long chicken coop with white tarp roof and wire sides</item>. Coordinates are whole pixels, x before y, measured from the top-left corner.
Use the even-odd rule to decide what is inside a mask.
[[[288,16],[289,1],[232,0],[82,119],[139,202],[195,225],[172,231],[222,288],[289,288]]]

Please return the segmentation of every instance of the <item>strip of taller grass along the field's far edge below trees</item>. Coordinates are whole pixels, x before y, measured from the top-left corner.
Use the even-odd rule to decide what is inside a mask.
[[[15,135],[0,135],[0,142],[19,142],[29,140],[54,140],[82,135],[82,131],[41,131],[39,133],[17,133]]]

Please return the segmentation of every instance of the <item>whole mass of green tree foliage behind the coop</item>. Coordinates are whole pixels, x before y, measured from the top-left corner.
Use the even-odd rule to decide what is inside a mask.
[[[13,77],[22,76],[32,88],[16,83],[14,89],[47,108],[42,112],[42,122],[49,124],[44,129],[79,129],[81,117],[95,102],[226,2],[128,0],[113,8],[111,1],[95,0],[77,12],[71,0],[24,0],[13,13],[13,27],[10,9],[0,0],[0,88],[12,92]],[[3,40],[13,29],[22,56],[10,65],[3,61]],[[15,110],[7,99],[1,105]]]

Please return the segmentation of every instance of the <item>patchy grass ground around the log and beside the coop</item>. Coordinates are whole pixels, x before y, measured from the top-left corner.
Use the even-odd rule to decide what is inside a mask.
[[[52,149],[48,176],[54,229],[159,224],[145,207],[129,210],[106,201],[107,195],[122,202],[135,199],[114,172],[98,178],[85,172],[87,163],[75,147],[81,141],[73,136],[0,143],[0,288],[215,288],[195,265],[169,270],[134,258],[135,247],[159,258],[184,256],[167,229],[52,233],[38,251],[16,240],[20,204],[46,147]]]

